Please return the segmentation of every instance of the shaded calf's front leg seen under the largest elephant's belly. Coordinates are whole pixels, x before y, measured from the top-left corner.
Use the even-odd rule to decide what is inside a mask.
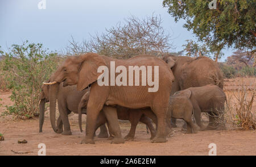
[[[125,136],[125,140],[134,140],[135,131],[137,128],[137,124],[139,123],[139,119],[141,118],[141,113],[138,110],[129,110],[129,121],[131,123],[131,128],[129,133]]]

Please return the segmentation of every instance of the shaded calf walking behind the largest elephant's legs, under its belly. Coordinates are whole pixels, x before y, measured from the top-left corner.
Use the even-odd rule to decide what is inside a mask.
[[[86,108],[88,105],[88,101],[89,101],[89,95],[90,92],[86,92],[84,94],[84,96],[82,97],[80,103],[79,103],[79,127],[80,130],[82,132],[82,126],[81,126],[81,114],[82,114],[82,108]],[[105,107],[103,107],[102,110],[105,110]],[[133,140],[134,136],[135,136],[135,130],[137,127],[138,122],[142,122],[144,124],[146,124],[146,126],[148,126],[150,132],[151,132],[151,138],[153,139],[155,137],[156,131],[154,126],[151,123],[151,119],[153,120],[153,122],[155,124],[157,124],[157,120],[156,120],[156,116],[154,114],[154,112],[152,112],[150,109],[129,109],[129,108],[125,108],[125,107],[121,107],[121,106],[116,106],[117,108],[117,116],[118,119],[121,120],[129,120],[131,123],[131,128],[129,133],[127,134],[127,136],[125,136],[126,140]],[[151,118],[151,119],[150,119]],[[110,118],[112,119],[112,118]],[[100,112],[100,114],[98,115],[98,119],[96,122],[96,130],[99,126],[101,126],[102,124],[105,124],[107,121],[106,116],[104,114],[104,112]],[[112,130],[109,129],[109,133],[110,133],[110,137],[113,136]]]

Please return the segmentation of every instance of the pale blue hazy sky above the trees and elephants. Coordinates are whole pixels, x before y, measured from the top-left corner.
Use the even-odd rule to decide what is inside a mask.
[[[89,34],[104,32],[131,15],[143,18],[153,12],[162,16],[162,26],[172,35],[176,47],[172,51],[183,49],[187,39],[196,40],[183,28],[183,20],[174,22],[162,0],[45,0],[46,9],[41,10],[40,1],[0,0],[0,46],[4,51],[25,40],[59,51],[68,45],[71,36],[76,41],[89,39]],[[224,53],[221,61],[232,54],[232,49]]]

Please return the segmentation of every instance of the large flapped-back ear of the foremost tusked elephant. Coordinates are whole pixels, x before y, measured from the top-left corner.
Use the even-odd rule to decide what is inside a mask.
[[[106,66],[105,60],[96,53],[87,53],[81,56],[81,67],[77,82],[77,90],[83,90],[97,81],[101,73],[97,73],[99,66]]]

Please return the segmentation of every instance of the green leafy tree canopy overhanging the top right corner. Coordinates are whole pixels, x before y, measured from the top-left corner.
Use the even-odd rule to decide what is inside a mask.
[[[175,22],[184,19],[184,27],[216,52],[216,61],[225,47],[255,49],[255,0],[218,0],[217,9],[212,10],[209,2],[212,0],[164,0],[163,6]]]

